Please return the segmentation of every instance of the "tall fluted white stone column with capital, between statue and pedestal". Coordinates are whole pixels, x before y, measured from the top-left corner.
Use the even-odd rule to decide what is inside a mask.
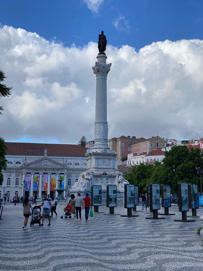
[[[111,63],[106,64],[107,56],[99,54],[98,62],[92,67],[96,74],[96,113],[94,122],[94,151],[95,149],[110,149],[108,145],[108,125],[107,125],[107,74],[110,71]]]

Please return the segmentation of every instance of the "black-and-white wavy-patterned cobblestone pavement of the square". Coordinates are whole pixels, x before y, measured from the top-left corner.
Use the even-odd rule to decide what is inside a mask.
[[[82,221],[73,216],[60,219],[63,208],[57,206],[58,217],[51,218],[51,227],[47,219],[44,227],[30,227],[29,218],[29,230],[24,230],[22,204],[5,205],[0,221],[0,270],[203,270],[203,240],[196,234],[202,223],[198,218],[173,222],[181,219],[178,208],[170,209],[176,215],[163,220],[146,220],[151,214],[143,212],[136,213],[139,217],[99,213],[89,222],[84,221],[84,211]],[[99,211],[108,213],[109,208],[102,206]],[[197,212],[201,215],[203,209]],[[118,206],[115,213],[127,214],[127,210]]]

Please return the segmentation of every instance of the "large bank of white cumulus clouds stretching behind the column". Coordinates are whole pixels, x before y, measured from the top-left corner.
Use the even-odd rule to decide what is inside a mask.
[[[18,141],[93,140],[97,44],[64,47],[36,33],[0,28],[1,69],[12,95],[1,98],[1,136]],[[159,41],[136,52],[107,46],[109,138],[202,137],[203,41]]]

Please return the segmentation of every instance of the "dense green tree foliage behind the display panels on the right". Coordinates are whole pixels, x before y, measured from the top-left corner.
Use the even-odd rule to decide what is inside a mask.
[[[155,162],[155,166],[140,164],[134,166],[132,172],[125,175],[129,183],[138,185],[139,192],[146,191],[149,183],[171,185],[172,192],[178,192],[178,182],[197,183],[200,191],[200,181],[196,169],[203,168],[203,152],[186,146],[174,146],[165,152],[163,164]]]

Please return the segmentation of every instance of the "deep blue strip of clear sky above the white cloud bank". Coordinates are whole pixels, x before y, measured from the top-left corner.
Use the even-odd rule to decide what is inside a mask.
[[[7,0],[1,10],[2,25],[36,32],[46,40],[56,37],[64,46],[97,42],[102,30],[108,44],[136,50],[166,39],[203,39],[202,0],[104,0],[98,12],[83,0]]]

